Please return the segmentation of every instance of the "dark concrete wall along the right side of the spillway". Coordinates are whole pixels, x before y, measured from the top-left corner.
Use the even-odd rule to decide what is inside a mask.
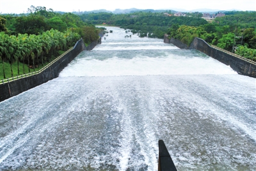
[[[200,52],[204,52],[205,54],[207,54],[207,56],[211,56],[214,59],[220,61],[221,63],[229,65],[234,71],[241,75],[256,78],[256,63],[236,57],[235,54],[232,54],[230,52],[224,52],[223,50],[211,47],[208,43],[200,38],[195,38],[191,45],[188,47],[181,41],[175,40],[173,38],[169,39],[167,36],[168,35],[166,34],[164,35],[164,43],[172,43],[179,48],[195,48]]]

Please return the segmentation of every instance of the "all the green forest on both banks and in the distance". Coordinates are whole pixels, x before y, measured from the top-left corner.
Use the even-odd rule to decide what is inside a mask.
[[[95,25],[119,26],[140,37],[162,38],[164,34],[189,45],[195,37],[211,45],[256,61],[256,12],[227,11],[224,17],[202,19],[202,13],[134,11],[57,13],[31,6],[27,14],[0,15],[0,78],[29,73],[44,66],[83,38],[86,44],[99,38]],[[37,68],[38,67],[38,68]],[[6,68],[10,68],[6,69]]]

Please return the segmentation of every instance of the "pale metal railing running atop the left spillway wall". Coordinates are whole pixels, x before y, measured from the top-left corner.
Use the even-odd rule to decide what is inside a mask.
[[[49,66],[51,66],[53,63],[55,63],[56,61],[58,61],[61,57],[65,56],[68,52],[70,52],[71,50],[73,50],[74,47],[68,49],[66,52],[64,52],[63,54],[61,54],[61,56],[59,57],[56,57],[56,59],[54,59],[53,61],[51,61],[51,63],[45,65],[43,68],[41,68],[40,70],[38,71],[33,71],[31,73],[26,73],[26,74],[23,74],[23,75],[17,75],[15,77],[11,77],[11,78],[6,78],[6,79],[2,79],[0,80],[0,84],[4,84],[6,82],[13,82],[15,80],[19,80],[21,78],[26,78],[26,77],[31,77],[33,75],[37,75],[39,73],[42,73],[42,71],[46,70],[47,68],[49,68]]]

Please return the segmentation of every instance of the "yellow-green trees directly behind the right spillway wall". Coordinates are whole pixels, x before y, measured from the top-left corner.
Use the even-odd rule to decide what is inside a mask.
[[[239,56],[256,61],[256,12],[234,12],[233,15],[218,17],[212,23],[199,26],[173,24],[168,29],[169,38],[175,38],[190,45],[195,37],[216,45]],[[237,23],[237,19],[243,19]],[[223,25],[223,23],[229,25]],[[222,24],[221,24],[222,23]],[[250,26],[250,27],[248,27]]]

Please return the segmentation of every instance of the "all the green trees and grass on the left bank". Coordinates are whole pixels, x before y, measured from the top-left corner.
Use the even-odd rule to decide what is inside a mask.
[[[73,13],[31,6],[22,15],[0,16],[0,78],[39,70],[83,38],[99,39],[100,29]]]

